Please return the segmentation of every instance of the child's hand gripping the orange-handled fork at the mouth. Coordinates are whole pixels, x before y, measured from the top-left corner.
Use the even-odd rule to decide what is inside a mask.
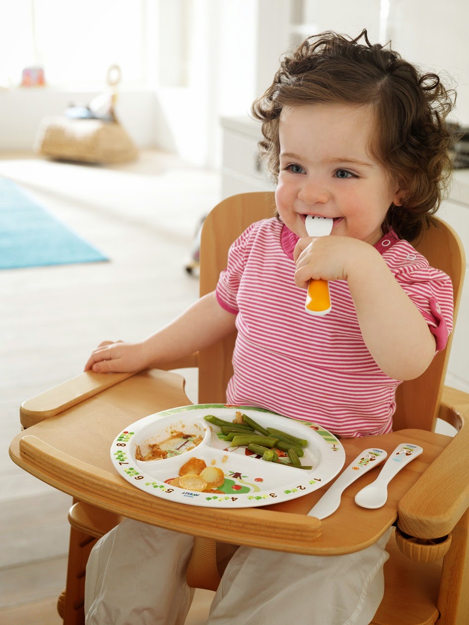
[[[376,250],[359,239],[346,236],[305,237],[296,244],[295,284],[306,289],[315,280],[346,280],[351,271],[364,270]]]

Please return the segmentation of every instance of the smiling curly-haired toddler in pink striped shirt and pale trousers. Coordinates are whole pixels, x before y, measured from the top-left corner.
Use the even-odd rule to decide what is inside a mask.
[[[410,243],[450,176],[452,105],[436,74],[370,44],[366,31],[306,39],[253,104],[276,216],[233,243],[215,291],[144,341],[102,343],[85,370],[158,366],[236,327],[229,404],[340,437],[390,432],[396,387],[425,371],[452,329],[450,279]],[[331,236],[308,237],[307,215],[332,218]],[[330,281],[326,316],[305,312],[311,278]],[[293,613],[315,625],[368,625],[383,597],[388,536],[345,556],[240,547],[207,622],[277,624]],[[131,520],[114,528],[89,558],[88,625],[183,625],[192,544]]]

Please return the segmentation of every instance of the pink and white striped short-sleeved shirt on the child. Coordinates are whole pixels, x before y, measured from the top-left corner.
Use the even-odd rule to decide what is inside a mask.
[[[316,422],[342,437],[390,432],[400,381],[366,349],[345,280],[330,282],[329,314],[305,312],[306,292],[293,279],[297,241],[272,218],[252,224],[229,249],[216,287],[238,329],[226,400]],[[443,349],[453,319],[450,278],[393,232],[375,247]]]

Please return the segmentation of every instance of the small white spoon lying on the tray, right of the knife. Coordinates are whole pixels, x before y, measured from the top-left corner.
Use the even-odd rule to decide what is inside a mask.
[[[385,466],[380,471],[374,482],[362,488],[355,495],[355,503],[361,507],[376,508],[384,506],[388,499],[388,484],[393,477],[406,464],[420,456],[423,449],[410,442],[404,442],[396,447],[392,455],[388,458]]]

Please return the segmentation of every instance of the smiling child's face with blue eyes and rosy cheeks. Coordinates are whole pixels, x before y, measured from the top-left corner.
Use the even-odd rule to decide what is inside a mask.
[[[373,132],[370,110],[351,104],[283,108],[275,200],[291,231],[308,236],[306,215],[319,215],[333,217],[331,234],[380,240],[400,189],[368,150]]]

